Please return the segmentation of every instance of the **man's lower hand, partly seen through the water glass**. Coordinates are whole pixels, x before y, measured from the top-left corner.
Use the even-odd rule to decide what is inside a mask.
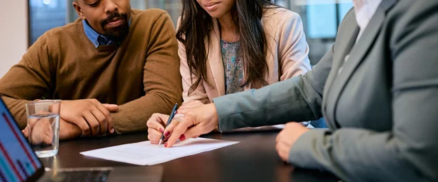
[[[30,130],[30,125],[32,125],[31,128],[34,128],[34,130]],[[44,143],[48,145],[52,143],[53,140],[52,127],[48,121],[35,120],[34,122],[29,122],[26,128],[21,132],[23,132],[26,138],[28,138],[31,133],[30,141],[35,144]],[[81,134],[82,130],[79,126],[59,119],[59,140],[75,139],[81,136]]]

